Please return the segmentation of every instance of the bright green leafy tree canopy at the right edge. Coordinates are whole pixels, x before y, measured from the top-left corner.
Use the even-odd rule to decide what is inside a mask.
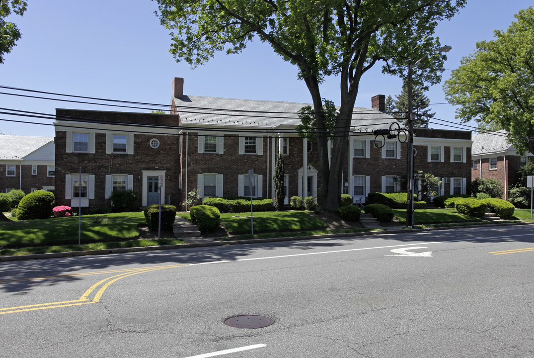
[[[477,42],[444,90],[459,106],[456,117],[462,122],[505,129],[515,135],[510,141],[518,152],[534,154],[534,9],[515,18],[507,31],[495,30],[494,40]]]

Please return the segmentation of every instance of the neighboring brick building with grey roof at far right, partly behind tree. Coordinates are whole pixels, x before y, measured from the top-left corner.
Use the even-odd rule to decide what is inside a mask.
[[[493,133],[477,134],[473,136],[471,179],[476,178],[499,180],[504,186],[504,198],[508,198],[508,186],[518,179],[518,170],[534,160],[531,153],[520,155],[515,147],[507,142],[507,133],[499,130]]]

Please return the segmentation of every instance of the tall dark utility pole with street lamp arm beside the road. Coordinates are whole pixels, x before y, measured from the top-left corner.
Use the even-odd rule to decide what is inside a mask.
[[[449,52],[451,46],[442,46],[431,52]],[[417,66],[427,55],[421,57],[412,65],[412,60],[408,60],[408,198],[406,200],[406,224],[409,228],[413,227],[413,84],[412,84],[412,70]]]

